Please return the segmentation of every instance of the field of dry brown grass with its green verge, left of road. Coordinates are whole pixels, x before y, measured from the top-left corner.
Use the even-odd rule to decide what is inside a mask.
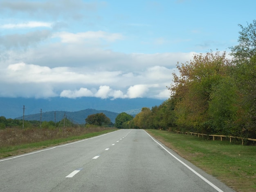
[[[116,129],[113,127],[0,129],[0,158],[97,136],[114,130]]]

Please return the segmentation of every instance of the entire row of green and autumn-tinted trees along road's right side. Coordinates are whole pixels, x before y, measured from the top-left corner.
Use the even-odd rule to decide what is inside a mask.
[[[229,47],[229,56],[209,51],[177,63],[170,98],[121,127],[256,138],[256,20],[239,26],[239,44]]]

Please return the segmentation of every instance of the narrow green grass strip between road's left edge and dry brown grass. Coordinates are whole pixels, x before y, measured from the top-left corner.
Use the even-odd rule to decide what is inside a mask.
[[[56,146],[64,143],[70,143],[73,141],[90,138],[90,137],[98,136],[101,134],[106,134],[116,130],[117,129],[98,130],[97,132],[90,132],[90,133],[75,135],[75,136],[71,135],[65,138],[54,138],[54,139],[48,139],[45,141],[38,141],[33,143],[0,146],[0,159],[8,156],[14,156],[18,154],[32,152],[34,150],[44,149],[46,147]]]

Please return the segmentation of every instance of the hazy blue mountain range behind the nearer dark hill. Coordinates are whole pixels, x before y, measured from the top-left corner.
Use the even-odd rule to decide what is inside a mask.
[[[142,107],[153,107],[161,105],[164,100],[152,98],[133,98],[133,99],[101,99],[95,97],[82,98],[60,98],[53,97],[48,99],[36,98],[0,98],[0,116],[6,118],[17,118],[23,115],[23,106],[25,106],[25,116],[31,114],[40,114],[45,112],[79,112],[85,109],[96,109],[114,113],[126,112],[128,114],[137,114]],[[56,114],[57,115],[57,114]],[[60,113],[60,116],[64,114]],[[69,116],[69,114],[67,113]],[[42,115],[43,116],[43,115]],[[83,117],[83,123],[85,122]],[[110,118],[110,117],[109,117]],[[73,117],[74,119],[74,117]],[[111,119],[111,118],[110,118]],[[38,118],[40,120],[40,116]],[[46,121],[46,120],[44,120]],[[75,120],[74,120],[75,121]],[[79,122],[79,121],[77,121]]]

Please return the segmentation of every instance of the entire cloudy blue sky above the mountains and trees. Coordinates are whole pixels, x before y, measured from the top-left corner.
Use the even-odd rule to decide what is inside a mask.
[[[0,97],[170,96],[177,62],[237,45],[252,0],[0,0]]]

